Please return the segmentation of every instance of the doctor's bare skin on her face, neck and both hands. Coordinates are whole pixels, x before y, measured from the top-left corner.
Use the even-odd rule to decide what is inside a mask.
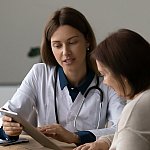
[[[77,29],[60,26],[51,37],[52,52],[63,68],[65,75],[73,86],[77,86],[86,76],[86,49],[89,43]],[[13,122],[12,118],[3,117],[3,129],[6,134],[21,134],[22,126]],[[63,128],[60,124],[52,124],[38,128],[43,134],[67,143],[79,143],[79,137]]]

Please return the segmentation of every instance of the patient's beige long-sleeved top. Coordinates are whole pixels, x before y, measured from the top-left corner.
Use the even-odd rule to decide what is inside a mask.
[[[150,90],[125,106],[110,150],[150,150]]]

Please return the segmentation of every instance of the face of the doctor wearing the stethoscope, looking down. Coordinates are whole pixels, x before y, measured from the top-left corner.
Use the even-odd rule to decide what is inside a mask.
[[[60,26],[51,37],[51,47],[55,59],[65,72],[86,67],[86,48],[84,35],[69,26]]]

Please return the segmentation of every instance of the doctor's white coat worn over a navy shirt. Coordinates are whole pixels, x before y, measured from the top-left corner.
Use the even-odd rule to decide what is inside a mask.
[[[35,64],[22,81],[21,86],[12,99],[3,108],[20,113],[25,119],[37,126],[56,123],[54,73],[55,67],[47,66],[44,63]],[[104,95],[102,108],[100,93],[96,89],[91,90],[86,99],[84,95],[79,93],[75,101],[72,102],[67,87],[61,90],[59,77],[57,76],[56,101],[58,119],[60,124],[69,131],[89,130],[96,138],[115,132],[119,116],[125,106],[125,101],[118,97],[113,89],[102,83],[102,77],[99,78],[99,87]],[[89,87],[96,85],[96,82],[95,77]],[[84,103],[81,107],[83,100]],[[79,111],[80,108],[81,110]],[[35,110],[37,115],[33,117],[32,114]],[[78,111],[79,114],[77,116]],[[112,125],[105,128],[108,121]],[[97,129],[98,122],[99,127]]]

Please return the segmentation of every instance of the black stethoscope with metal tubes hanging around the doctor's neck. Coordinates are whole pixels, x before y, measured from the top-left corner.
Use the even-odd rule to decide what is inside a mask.
[[[54,107],[55,107],[55,116],[56,116],[56,122],[59,124],[59,119],[58,119],[58,111],[57,111],[57,102],[56,102],[56,87],[57,87],[57,74],[58,74],[58,66],[56,66],[56,69],[55,69],[55,73],[54,73]],[[97,123],[97,126],[96,126],[96,129],[99,128],[99,124],[100,124],[100,118],[101,118],[101,109],[102,109],[102,102],[103,102],[103,91],[99,88],[99,77],[97,76],[96,77],[96,80],[97,80],[97,83],[95,86],[91,86],[89,89],[86,90],[86,92],[84,93],[84,99],[82,100],[82,103],[78,109],[78,112],[77,112],[77,115],[75,116],[75,119],[74,119],[74,128],[79,131],[77,129],[77,118],[81,112],[81,109],[83,107],[83,104],[85,102],[85,99],[87,97],[87,95],[89,94],[89,92],[93,89],[96,89],[98,90],[99,92],[99,96],[100,96],[100,109],[99,109],[99,117],[98,117],[98,123]]]

